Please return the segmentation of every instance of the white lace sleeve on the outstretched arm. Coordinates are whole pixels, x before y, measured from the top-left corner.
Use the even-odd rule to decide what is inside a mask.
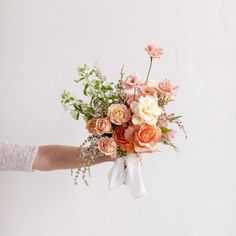
[[[0,141],[0,170],[33,171],[38,146]]]

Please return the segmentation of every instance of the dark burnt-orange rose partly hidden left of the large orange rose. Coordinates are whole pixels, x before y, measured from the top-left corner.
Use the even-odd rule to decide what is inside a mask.
[[[126,140],[124,136],[125,130],[125,126],[117,126],[114,130],[113,138],[121,150],[131,153],[134,151],[134,145],[133,143],[130,143],[128,140]]]

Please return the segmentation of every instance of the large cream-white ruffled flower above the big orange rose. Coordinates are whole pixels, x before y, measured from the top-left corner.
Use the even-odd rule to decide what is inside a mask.
[[[149,95],[140,97],[138,102],[132,102],[130,107],[134,113],[132,116],[134,125],[141,125],[142,123],[156,125],[158,116],[162,113],[161,108],[158,106],[157,98]]]

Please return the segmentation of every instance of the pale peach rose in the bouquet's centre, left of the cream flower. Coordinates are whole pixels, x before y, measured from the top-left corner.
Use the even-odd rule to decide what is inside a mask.
[[[110,121],[116,125],[122,125],[131,118],[129,110],[124,104],[112,104],[108,107],[107,116]]]

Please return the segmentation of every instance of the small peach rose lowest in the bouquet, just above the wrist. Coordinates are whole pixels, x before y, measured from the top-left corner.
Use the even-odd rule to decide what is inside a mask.
[[[116,156],[116,142],[113,138],[101,138],[98,140],[98,149],[107,156]]]

